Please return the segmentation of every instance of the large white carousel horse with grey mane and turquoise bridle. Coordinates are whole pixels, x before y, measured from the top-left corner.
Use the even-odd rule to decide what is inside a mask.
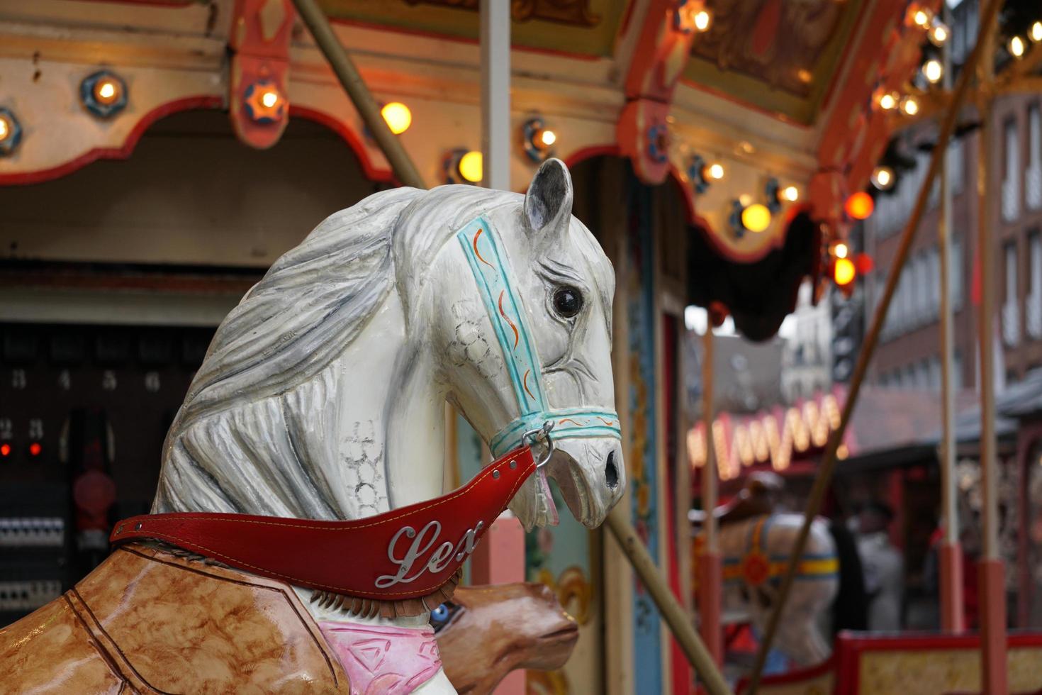
[[[326,219],[218,328],[168,435],[153,513],[358,519],[436,497],[447,400],[497,456],[555,420],[543,470],[599,525],[625,487],[615,279],[571,207],[568,170],[550,159],[525,196],[396,189]],[[511,508],[528,529],[555,523],[546,473]],[[345,629],[428,621],[294,589]],[[439,670],[416,692],[454,690]]]

